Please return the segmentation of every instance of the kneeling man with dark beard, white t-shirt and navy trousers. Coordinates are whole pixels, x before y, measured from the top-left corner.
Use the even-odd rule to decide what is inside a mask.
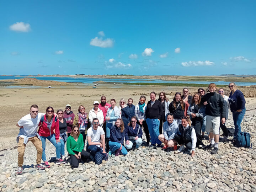
[[[86,151],[90,152],[93,161],[97,165],[100,165],[102,160],[107,160],[107,154],[105,151],[105,133],[99,124],[98,118],[92,119],[93,127],[90,127],[87,130],[88,143],[86,146]]]

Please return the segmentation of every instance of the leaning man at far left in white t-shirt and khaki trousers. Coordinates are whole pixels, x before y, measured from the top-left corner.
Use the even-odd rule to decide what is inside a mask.
[[[20,132],[16,138],[18,143],[18,175],[21,175],[23,171],[23,156],[29,141],[33,143],[37,150],[36,169],[44,170],[44,166],[41,164],[43,153],[42,142],[40,135],[37,133],[38,124],[43,116],[44,113],[38,113],[38,106],[32,105],[30,107],[30,114],[22,117],[16,124],[20,128]]]

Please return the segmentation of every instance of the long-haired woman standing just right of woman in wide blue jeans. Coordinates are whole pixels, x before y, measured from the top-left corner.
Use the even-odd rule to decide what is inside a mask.
[[[163,109],[162,117],[161,117],[161,119],[160,119],[160,124],[159,124],[159,134],[162,134],[163,123],[164,123],[164,122],[166,121],[166,119],[167,119],[167,114],[170,113],[170,112],[169,112],[169,105],[170,105],[170,102],[169,102],[169,99],[166,97],[164,91],[161,91],[161,92],[160,92],[158,101],[161,102],[161,104],[162,104],[162,109]]]

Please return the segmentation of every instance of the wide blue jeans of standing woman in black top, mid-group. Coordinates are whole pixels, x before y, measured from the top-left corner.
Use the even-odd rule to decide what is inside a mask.
[[[147,118],[146,123],[148,124],[151,144],[161,144],[162,142],[158,139],[160,121],[158,119]]]

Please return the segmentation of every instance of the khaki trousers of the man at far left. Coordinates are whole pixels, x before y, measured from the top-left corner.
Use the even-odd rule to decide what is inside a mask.
[[[43,148],[42,148],[42,142],[40,139],[38,139],[37,136],[29,138],[28,142],[31,141],[34,146],[36,147],[37,150],[37,164],[41,163],[42,160],[42,153],[43,153]],[[18,142],[18,166],[22,167],[23,165],[23,156],[25,153],[25,147],[26,144],[23,143],[24,138],[19,137],[19,142]]]

